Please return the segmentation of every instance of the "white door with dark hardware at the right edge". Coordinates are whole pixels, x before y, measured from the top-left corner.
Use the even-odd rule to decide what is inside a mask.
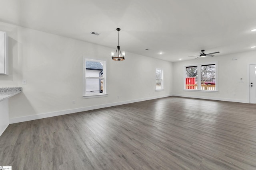
[[[256,104],[256,64],[250,65],[250,103]]]

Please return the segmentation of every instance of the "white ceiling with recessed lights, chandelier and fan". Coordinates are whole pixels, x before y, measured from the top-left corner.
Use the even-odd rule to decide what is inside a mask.
[[[0,4],[2,22],[113,51],[119,27],[122,51],[172,62],[194,59],[187,56],[199,55],[202,49],[220,51],[217,56],[256,46],[256,31],[250,31],[256,28],[256,0],[0,0]]]

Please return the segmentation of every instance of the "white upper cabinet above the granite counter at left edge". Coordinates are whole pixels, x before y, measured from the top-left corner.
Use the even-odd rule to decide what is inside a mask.
[[[0,31],[0,74],[8,74],[8,37]]]

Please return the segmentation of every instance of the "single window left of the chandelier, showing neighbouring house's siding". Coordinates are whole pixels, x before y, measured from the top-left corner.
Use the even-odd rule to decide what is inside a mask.
[[[105,61],[84,59],[84,96],[106,94]]]

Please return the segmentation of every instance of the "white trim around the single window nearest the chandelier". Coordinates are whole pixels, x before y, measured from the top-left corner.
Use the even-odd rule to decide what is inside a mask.
[[[103,93],[100,94],[86,94],[86,61],[94,61],[94,62],[102,62],[103,64],[103,77],[88,77],[88,78],[102,78],[104,80]],[[106,61],[104,60],[96,60],[96,59],[88,59],[84,57],[83,59],[83,98],[99,98],[106,97],[107,94],[107,80],[106,80]]]

